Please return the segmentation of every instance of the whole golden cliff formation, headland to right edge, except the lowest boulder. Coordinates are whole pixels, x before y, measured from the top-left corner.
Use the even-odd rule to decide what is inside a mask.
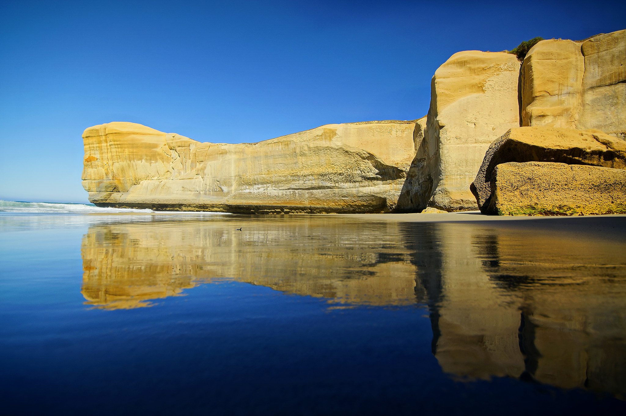
[[[428,115],[413,121],[328,124],[239,145],[199,143],[134,123],[93,126],[83,134],[83,186],[96,205],[122,208],[487,212],[498,163],[623,168],[611,163],[623,162],[625,114],[626,30],[550,39],[521,64],[506,52],[453,54],[434,73]],[[528,135],[520,126],[545,130],[518,143]]]

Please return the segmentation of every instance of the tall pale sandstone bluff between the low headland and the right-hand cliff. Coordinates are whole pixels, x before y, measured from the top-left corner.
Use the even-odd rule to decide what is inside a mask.
[[[475,210],[469,184],[492,141],[519,126],[515,55],[464,51],[437,69],[424,138],[401,205]]]

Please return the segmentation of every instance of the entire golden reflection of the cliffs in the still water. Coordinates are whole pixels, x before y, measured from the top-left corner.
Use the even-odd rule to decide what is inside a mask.
[[[537,224],[298,216],[93,225],[83,295],[95,307],[135,308],[228,279],[329,303],[428,303],[433,353],[453,377],[623,397],[626,243]]]

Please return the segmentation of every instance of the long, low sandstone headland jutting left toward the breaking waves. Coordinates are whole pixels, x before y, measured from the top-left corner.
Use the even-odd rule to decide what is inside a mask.
[[[98,206],[244,213],[388,212],[415,121],[328,124],[259,143],[200,143],[135,123],[85,130],[83,187]]]

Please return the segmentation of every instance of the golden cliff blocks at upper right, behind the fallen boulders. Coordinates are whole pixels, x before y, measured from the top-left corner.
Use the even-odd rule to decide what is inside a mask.
[[[626,139],[626,30],[551,39],[521,67],[521,125],[599,129]]]

